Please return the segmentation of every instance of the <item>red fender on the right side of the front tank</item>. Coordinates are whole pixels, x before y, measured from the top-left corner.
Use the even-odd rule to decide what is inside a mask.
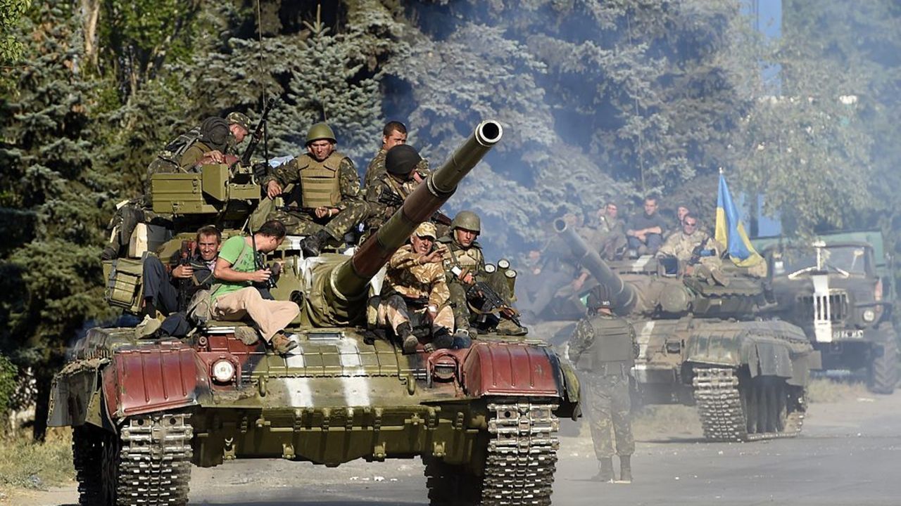
[[[474,397],[566,395],[560,359],[551,348],[476,341],[463,361],[461,384]],[[577,385],[578,387],[578,385]]]

